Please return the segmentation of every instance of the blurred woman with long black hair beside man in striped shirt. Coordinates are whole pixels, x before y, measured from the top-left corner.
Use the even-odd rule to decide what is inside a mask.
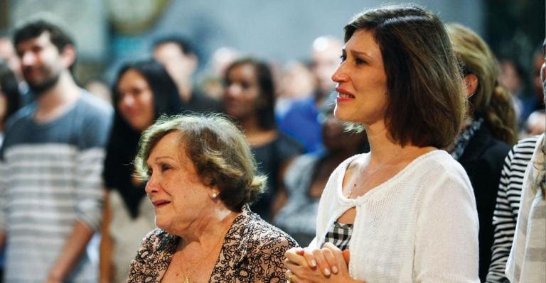
[[[134,175],[139,138],[162,114],[178,113],[181,101],[173,80],[154,60],[123,65],[112,94],[115,113],[103,173],[107,196],[100,277],[102,282],[127,282],[135,250],[155,227],[146,183]]]

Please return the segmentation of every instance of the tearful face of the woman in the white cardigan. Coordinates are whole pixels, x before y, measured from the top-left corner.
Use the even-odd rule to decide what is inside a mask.
[[[381,50],[368,30],[356,30],[332,75],[337,83],[335,115],[341,121],[371,125],[385,118],[387,75]]]

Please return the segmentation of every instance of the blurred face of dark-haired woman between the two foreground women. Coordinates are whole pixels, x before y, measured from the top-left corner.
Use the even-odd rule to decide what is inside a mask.
[[[255,116],[261,91],[255,68],[249,64],[232,68],[225,84],[223,96],[225,113],[237,120]]]

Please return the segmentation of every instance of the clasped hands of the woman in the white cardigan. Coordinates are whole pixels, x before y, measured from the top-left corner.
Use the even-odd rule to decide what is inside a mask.
[[[331,243],[320,249],[291,248],[284,257],[286,277],[291,283],[357,282],[349,275],[349,250],[342,251]]]

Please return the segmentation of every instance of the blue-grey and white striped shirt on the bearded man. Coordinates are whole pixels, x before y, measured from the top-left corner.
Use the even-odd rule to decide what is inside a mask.
[[[36,123],[35,109],[27,106],[9,121],[0,151],[6,282],[43,282],[75,221],[97,230],[102,218],[103,148],[111,107],[84,93],[55,121]],[[85,253],[66,282],[96,278],[97,266]]]

